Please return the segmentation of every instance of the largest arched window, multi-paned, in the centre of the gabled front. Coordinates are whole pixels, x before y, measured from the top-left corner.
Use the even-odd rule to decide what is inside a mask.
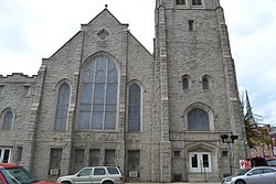
[[[114,58],[99,53],[82,68],[78,129],[116,129],[118,69]]]

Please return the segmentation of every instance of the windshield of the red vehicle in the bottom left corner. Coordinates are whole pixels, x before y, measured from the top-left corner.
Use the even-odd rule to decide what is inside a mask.
[[[31,184],[38,182],[23,166],[9,167],[6,171],[12,175],[20,184]],[[15,183],[15,182],[14,182]]]

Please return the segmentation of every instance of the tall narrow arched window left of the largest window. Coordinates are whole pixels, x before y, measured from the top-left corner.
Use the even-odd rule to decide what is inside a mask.
[[[70,104],[70,90],[71,90],[70,85],[67,83],[64,83],[60,86],[54,130],[64,131],[66,129],[68,104]]]

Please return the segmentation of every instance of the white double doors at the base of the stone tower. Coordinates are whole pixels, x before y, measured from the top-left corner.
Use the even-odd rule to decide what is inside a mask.
[[[212,172],[210,152],[190,152],[189,153],[190,172]]]

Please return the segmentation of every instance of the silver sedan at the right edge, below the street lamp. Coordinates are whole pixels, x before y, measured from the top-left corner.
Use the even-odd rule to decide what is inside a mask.
[[[243,175],[224,177],[222,184],[276,184],[276,169],[254,167]]]

